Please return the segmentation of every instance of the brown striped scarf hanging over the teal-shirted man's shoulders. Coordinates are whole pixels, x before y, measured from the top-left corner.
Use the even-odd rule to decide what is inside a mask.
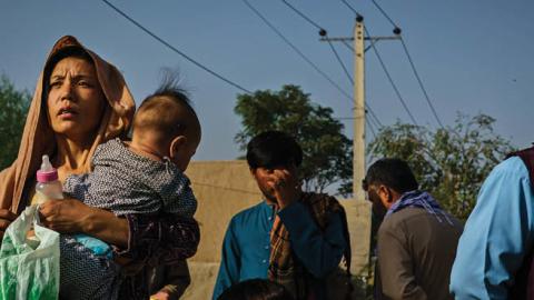
[[[344,208],[334,197],[323,193],[303,192],[299,201],[308,208],[315,222],[323,231],[328,226],[328,217],[333,213],[340,213],[347,243],[344,257],[347,266],[347,276],[350,276],[350,242]],[[275,218],[275,223],[273,224],[270,248],[268,278],[286,287],[295,299],[313,299],[309,284],[307,284],[307,272],[304,266],[295,259],[289,241],[289,232],[278,217]]]

